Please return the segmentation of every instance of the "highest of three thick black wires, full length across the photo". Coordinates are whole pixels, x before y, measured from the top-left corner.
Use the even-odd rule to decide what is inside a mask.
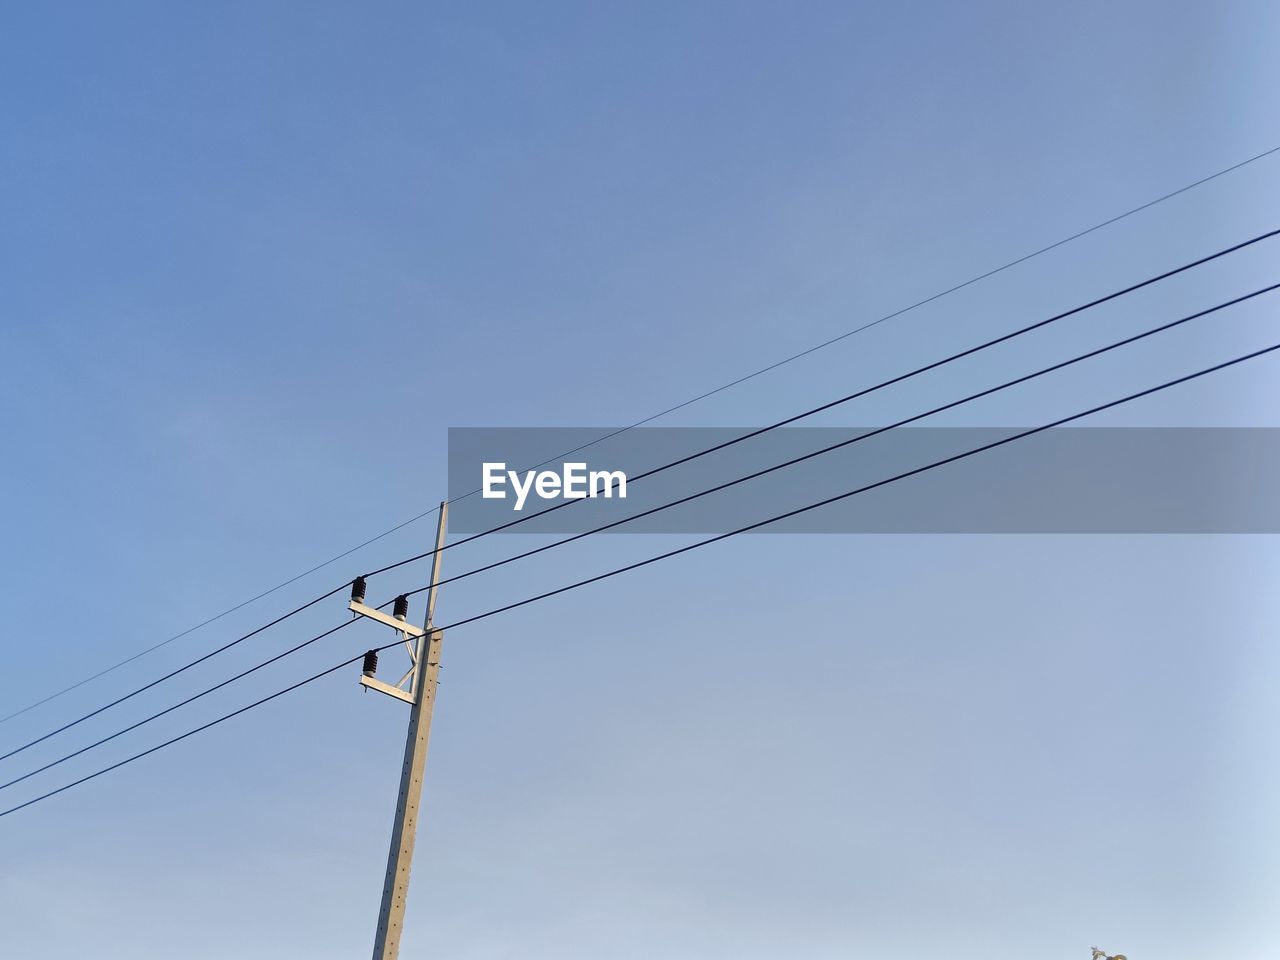
[[[814,416],[814,415],[820,413],[823,411],[827,411],[827,410],[831,410],[833,407],[837,407],[837,406],[840,406],[842,403],[849,403],[850,401],[858,399],[860,397],[865,397],[865,396],[868,396],[870,393],[876,393],[877,390],[884,389],[884,388],[891,387],[893,384],[899,384],[899,383],[902,383],[905,380],[910,380],[911,378],[919,376],[920,374],[924,374],[924,372],[928,372],[928,371],[932,371],[932,370],[937,370],[937,369],[940,369],[942,366],[946,366],[947,364],[952,364],[952,362],[955,362],[957,360],[961,360],[964,357],[973,356],[973,355],[979,353],[979,352],[982,352],[984,349],[989,349],[991,347],[995,347],[995,346],[997,346],[1000,343],[1005,343],[1005,342],[1012,340],[1012,339],[1015,339],[1018,337],[1021,337],[1024,334],[1028,334],[1028,333],[1030,333],[1033,330],[1037,330],[1039,328],[1043,328],[1043,326],[1047,326],[1050,324],[1057,323],[1059,320],[1064,320],[1066,317],[1070,317],[1070,316],[1074,316],[1076,314],[1084,312],[1085,310],[1091,310],[1093,307],[1097,307],[1097,306],[1101,306],[1101,305],[1107,303],[1110,301],[1117,300],[1117,298],[1124,297],[1124,296],[1126,296],[1129,293],[1133,293],[1135,291],[1139,291],[1139,289],[1143,289],[1143,288],[1149,287],[1152,284],[1160,283],[1161,280],[1166,280],[1170,276],[1176,276],[1176,275],[1183,274],[1183,273],[1185,273],[1188,270],[1193,270],[1193,269],[1196,269],[1198,266],[1203,266],[1204,264],[1208,264],[1208,262],[1211,262],[1213,260],[1219,260],[1219,259],[1221,259],[1224,256],[1229,256],[1230,253],[1234,253],[1234,252],[1238,252],[1238,251],[1240,251],[1240,250],[1243,250],[1245,247],[1253,246],[1254,243],[1261,243],[1262,241],[1270,239],[1270,238],[1272,238],[1272,237],[1275,237],[1277,234],[1280,234],[1280,229],[1268,230],[1267,233],[1258,234],[1258,236],[1252,237],[1252,238],[1249,238],[1247,241],[1242,241],[1240,243],[1235,243],[1235,244],[1233,244],[1230,247],[1225,247],[1225,248],[1219,250],[1219,251],[1216,251],[1213,253],[1210,253],[1207,256],[1203,256],[1203,257],[1199,257],[1197,260],[1193,260],[1193,261],[1190,261],[1188,264],[1183,264],[1181,266],[1174,268],[1171,270],[1166,270],[1166,271],[1164,271],[1161,274],[1157,274],[1155,276],[1149,276],[1149,278],[1147,278],[1144,280],[1140,280],[1138,283],[1130,284],[1130,285],[1124,287],[1124,288],[1121,288],[1119,291],[1114,291],[1112,293],[1107,293],[1107,294],[1105,294],[1102,297],[1096,297],[1094,300],[1091,300],[1087,303],[1082,303],[1079,306],[1075,306],[1075,307],[1071,307],[1070,310],[1065,310],[1062,312],[1055,314],[1053,316],[1046,317],[1043,320],[1037,320],[1036,323],[1028,324],[1028,325],[1021,326],[1021,328],[1019,328],[1016,330],[1012,330],[1010,333],[1001,334],[1000,337],[995,337],[992,339],[984,340],[983,343],[979,343],[979,344],[977,344],[974,347],[969,347],[966,349],[963,349],[963,351],[959,351],[956,353],[952,353],[952,355],[950,355],[947,357],[943,357],[942,360],[936,360],[936,361],[933,361],[931,364],[925,364],[923,366],[915,367],[914,370],[910,370],[910,371],[908,371],[905,374],[899,374],[897,376],[892,376],[892,378],[890,378],[887,380],[882,380],[882,381],[879,381],[879,383],[877,383],[877,384],[874,384],[872,387],[861,388],[861,389],[855,390],[852,393],[845,394],[844,397],[838,397],[837,399],[828,401],[827,403],[822,403],[822,404],[819,404],[817,407],[812,407],[812,408],[809,408],[806,411],[803,411],[800,413],[796,413],[794,416],[786,417],[783,420],[778,420],[777,422],[771,424],[768,426],[763,426],[763,428],[759,428],[756,430],[751,430],[749,433],[745,433],[745,434],[741,434],[739,436],[731,438],[731,439],[728,439],[728,440],[726,440],[723,443],[714,444],[712,447],[708,447],[705,449],[701,449],[701,451],[698,451],[695,453],[687,454],[685,457],[680,457],[677,460],[669,461],[668,463],[664,463],[662,466],[653,467],[652,470],[644,471],[641,474],[636,474],[635,476],[630,477],[630,483],[632,483],[632,484],[637,483],[637,481],[644,480],[646,477],[654,476],[655,474],[660,474],[660,472],[663,472],[666,470],[671,470],[672,467],[681,466],[681,465],[689,463],[689,462],[691,462],[694,460],[699,460],[700,457],[705,457],[705,456],[708,456],[710,453],[716,453],[718,451],[726,449],[727,447],[732,447],[735,444],[742,443],[742,442],[753,439],[755,436],[760,436],[762,434],[767,434],[767,433],[769,433],[772,430],[777,430],[780,428],[787,426],[788,424],[797,422],[797,421],[804,420],[806,417],[810,417],[810,416]],[[442,550],[447,550],[447,549],[451,549],[453,547],[461,547],[462,544],[467,544],[467,543],[471,543],[474,540],[479,540],[480,538],[489,536],[490,534],[495,534],[498,531],[507,530],[509,527],[517,526],[517,525],[524,524],[526,521],[535,520],[538,517],[541,517],[541,516],[545,516],[548,513],[552,513],[552,512],[554,512],[557,509],[562,509],[562,508],[568,507],[568,506],[571,506],[571,504],[573,504],[576,502],[577,500],[562,500],[562,502],[559,502],[559,503],[557,503],[557,504],[554,504],[552,507],[548,507],[547,509],[539,511],[536,513],[527,513],[527,515],[520,516],[520,517],[517,517],[515,520],[511,520],[511,521],[508,521],[506,524],[500,524],[500,525],[498,525],[495,527],[490,527],[489,530],[483,530],[483,531],[472,534],[470,536],[465,536],[461,540],[454,540],[453,543],[445,544],[440,549]],[[397,567],[402,567],[402,566],[404,566],[407,563],[412,563],[415,561],[425,559],[428,557],[434,556],[435,552],[436,550],[433,549],[433,550],[428,550],[425,553],[415,554],[412,557],[397,561],[396,563],[390,563],[390,564],[387,564],[384,567],[379,567],[378,570],[371,571],[370,573],[366,573],[365,576],[366,577],[372,577],[372,576],[375,576],[378,573],[384,573],[384,572],[387,572],[389,570],[394,570]],[[492,564],[492,566],[500,566],[500,564]],[[489,567],[489,568],[492,568],[492,567]],[[480,572],[480,571],[472,571],[472,572]],[[301,607],[297,607],[296,609],[291,611],[289,613],[285,613],[282,617],[278,617],[276,620],[271,621],[270,623],[266,623],[265,626],[257,627],[256,630],[252,630],[248,634],[246,634],[246,635],[243,635],[243,636],[241,636],[241,637],[238,637],[238,639],[236,639],[236,640],[233,640],[233,641],[230,641],[228,644],[224,644],[223,646],[219,646],[215,650],[211,650],[210,653],[207,653],[207,654],[200,657],[200,658],[197,658],[197,659],[195,659],[195,660],[192,660],[192,662],[189,662],[189,663],[187,663],[187,664],[184,664],[184,666],[182,666],[182,667],[179,667],[179,668],[177,668],[174,671],[170,671],[165,676],[159,677],[157,680],[154,680],[150,684],[146,684],[142,687],[138,687],[138,689],[136,689],[136,690],[125,694],[124,696],[120,696],[120,698],[113,700],[111,703],[105,704],[104,707],[100,707],[100,708],[97,708],[95,710],[91,710],[90,713],[86,713],[86,714],[81,716],[77,719],[70,721],[69,723],[63,724],[61,727],[58,727],[58,728],[55,728],[55,730],[52,730],[52,731],[50,731],[50,732],[40,736],[40,737],[36,737],[35,740],[31,740],[31,741],[23,744],[22,746],[18,746],[18,748],[10,750],[6,754],[0,755],[0,760],[5,760],[5,759],[13,756],[14,754],[22,753],[23,750],[27,750],[27,749],[29,749],[29,748],[32,748],[32,746],[35,746],[37,744],[41,744],[41,742],[49,740],[50,737],[56,736],[58,733],[61,733],[63,731],[69,730],[70,727],[74,727],[78,723],[82,723],[83,721],[87,721],[87,719],[90,719],[92,717],[99,716],[100,713],[102,713],[104,710],[110,709],[111,707],[115,707],[115,705],[118,705],[120,703],[124,703],[125,700],[128,700],[128,699],[131,699],[133,696],[137,696],[138,694],[141,694],[141,692],[143,692],[146,690],[152,689],[156,685],[163,684],[164,681],[166,681],[166,680],[169,680],[169,678],[172,678],[174,676],[178,676],[179,673],[183,673],[184,671],[189,669],[191,667],[195,667],[198,663],[204,663],[205,660],[210,659],[211,657],[215,657],[219,653],[221,653],[221,652],[224,652],[224,650],[227,650],[227,649],[229,649],[232,646],[236,646],[237,644],[242,643],[243,640],[247,640],[248,637],[255,636],[255,635],[262,632],[268,627],[275,626],[276,623],[280,623],[284,620],[288,620],[289,617],[292,617],[292,616],[294,616],[294,614],[305,611],[306,608],[308,608],[308,607],[319,603],[320,600],[324,600],[324,599],[328,599],[329,596],[333,596],[334,594],[339,593],[340,590],[343,590],[346,588],[347,588],[347,582],[344,581],[343,584],[339,584],[338,586],[335,586],[334,589],[329,590],[328,593],[325,593],[325,594],[323,594],[323,595],[320,595],[320,596],[317,596],[317,598],[315,598],[312,600],[308,600],[307,603],[302,604]],[[416,590],[415,593],[421,593],[421,590]]]

